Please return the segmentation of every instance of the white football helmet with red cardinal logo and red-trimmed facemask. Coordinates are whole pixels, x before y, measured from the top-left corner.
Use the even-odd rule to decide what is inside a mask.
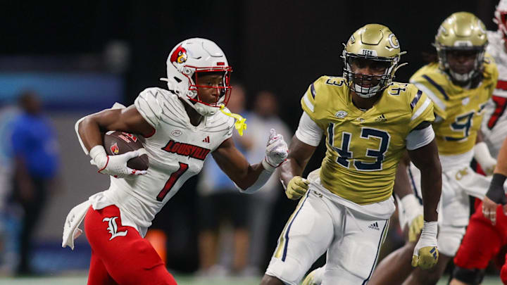
[[[223,83],[220,86],[197,85],[197,77],[202,72],[223,72]],[[180,98],[187,101],[197,113],[209,116],[215,114],[220,105],[227,105],[230,96],[230,73],[232,68],[222,49],[209,39],[185,39],[177,44],[167,59],[168,88]],[[199,98],[198,87],[215,88],[220,91],[218,101],[205,103]]]

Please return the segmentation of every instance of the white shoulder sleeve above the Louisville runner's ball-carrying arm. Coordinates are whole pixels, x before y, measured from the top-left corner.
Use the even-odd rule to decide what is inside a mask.
[[[163,95],[156,88],[148,88],[144,89],[134,101],[134,106],[144,120],[154,128],[158,126],[162,115],[162,107],[158,102],[160,96]]]

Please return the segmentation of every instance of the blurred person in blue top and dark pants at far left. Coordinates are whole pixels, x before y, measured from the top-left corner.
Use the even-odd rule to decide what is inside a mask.
[[[14,120],[12,131],[14,196],[24,215],[16,274],[27,275],[34,273],[30,267],[32,234],[58,171],[58,144],[49,118],[42,114],[37,94],[26,91],[18,103],[22,113]]]

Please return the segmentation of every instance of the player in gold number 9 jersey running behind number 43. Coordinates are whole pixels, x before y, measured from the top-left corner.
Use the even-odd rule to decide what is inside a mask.
[[[406,243],[380,262],[370,284],[401,284],[407,277],[403,284],[436,284],[465,233],[468,195],[482,198],[489,186],[488,179],[470,168],[470,160],[475,157],[486,171],[494,169],[496,163],[484,142],[480,142],[483,108],[498,77],[496,65],[485,53],[484,24],[471,13],[453,13],[439,27],[434,45],[438,62],[420,68],[411,83],[432,99],[436,114],[433,129],[443,175],[438,236],[441,255],[432,270],[412,272],[406,259],[415,243]],[[404,181],[412,180],[412,188],[418,193],[418,170],[414,165],[408,169],[411,177]],[[411,184],[404,187],[410,188]],[[403,205],[399,206],[403,220]]]

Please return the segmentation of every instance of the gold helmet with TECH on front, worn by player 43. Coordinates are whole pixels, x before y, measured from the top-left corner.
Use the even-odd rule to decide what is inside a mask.
[[[389,27],[380,24],[368,24],[359,28],[344,46],[342,54],[344,59],[343,77],[347,86],[363,98],[375,96],[391,84],[394,72],[402,66],[399,65],[400,56],[405,53],[400,51],[398,39],[389,30]],[[352,61],[361,58],[373,61],[374,65],[384,67],[384,74],[377,76],[354,73],[351,68]],[[362,81],[372,80],[378,84],[363,87],[363,84],[358,83],[358,78],[361,78]]]

